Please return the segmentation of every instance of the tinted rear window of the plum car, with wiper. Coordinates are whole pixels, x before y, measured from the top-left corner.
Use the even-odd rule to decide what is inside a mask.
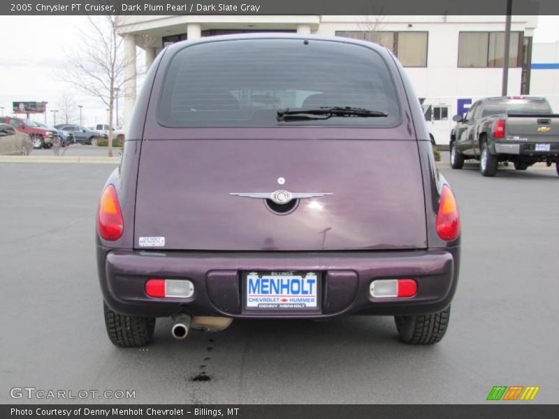
[[[350,106],[388,117],[277,121],[277,110]],[[185,47],[168,67],[159,124],[189,126],[395,126],[400,105],[389,69],[368,47],[258,39]]]

